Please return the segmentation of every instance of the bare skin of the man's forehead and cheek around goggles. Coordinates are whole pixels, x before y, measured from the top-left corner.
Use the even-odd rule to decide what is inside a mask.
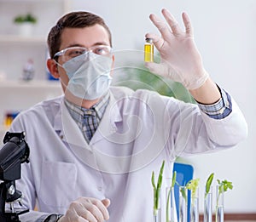
[[[97,45],[110,45],[108,31],[98,24],[84,28],[65,28],[61,34],[60,51],[74,46],[90,49]],[[61,65],[63,64],[61,60],[58,60],[58,62]],[[58,71],[62,87],[66,90],[68,83],[66,71],[60,65],[58,65]]]

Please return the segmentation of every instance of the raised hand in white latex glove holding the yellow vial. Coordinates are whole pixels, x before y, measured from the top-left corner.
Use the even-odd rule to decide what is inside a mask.
[[[149,71],[182,83],[185,88],[200,88],[206,82],[208,74],[195,46],[188,14],[183,13],[185,31],[182,31],[168,10],[163,9],[162,14],[169,26],[156,15],[149,16],[161,37],[153,33],[145,36],[153,39],[154,46],[160,52],[160,64],[148,62],[146,67]]]

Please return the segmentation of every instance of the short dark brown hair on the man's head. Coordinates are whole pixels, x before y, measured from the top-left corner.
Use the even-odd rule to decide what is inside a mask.
[[[53,59],[55,53],[60,50],[61,34],[65,28],[84,28],[96,24],[103,26],[108,31],[110,46],[112,46],[111,32],[100,16],[84,11],[72,12],[62,16],[49,31],[47,43],[50,58]]]

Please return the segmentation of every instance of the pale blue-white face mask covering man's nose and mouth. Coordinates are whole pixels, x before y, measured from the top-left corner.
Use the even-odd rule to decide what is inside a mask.
[[[69,78],[67,89],[73,95],[85,100],[102,97],[111,84],[112,62],[112,57],[90,52],[68,60],[62,65]]]

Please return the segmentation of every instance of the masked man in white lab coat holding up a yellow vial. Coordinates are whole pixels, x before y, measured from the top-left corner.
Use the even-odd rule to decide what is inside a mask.
[[[151,173],[166,160],[163,187],[178,156],[219,151],[245,139],[235,100],[205,71],[187,14],[185,31],[166,9],[150,19],[161,37],[150,71],[183,83],[197,105],[154,92],[109,87],[114,75],[111,34],[102,18],[64,15],[48,37],[47,61],[65,95],[23,111],[12,132],[26,132],[30,163],[17,189],[30,208],[22,221],[150,221]],[[37,202],[38,212],[32,211]]]

